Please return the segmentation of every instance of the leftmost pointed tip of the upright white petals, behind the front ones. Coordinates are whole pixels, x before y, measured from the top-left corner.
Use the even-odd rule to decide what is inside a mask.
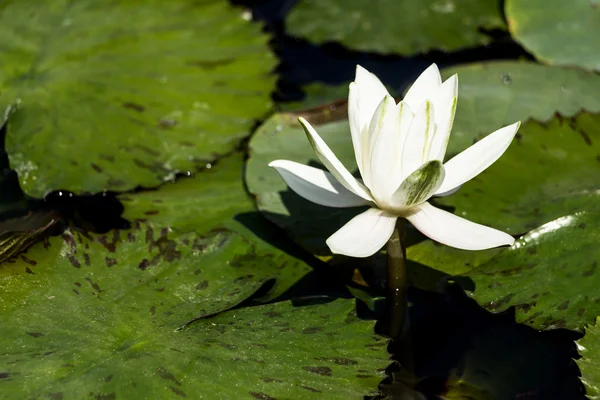
[[[362,128],[366,128],[371,122],[375,109],[389,93],[375,74],[370,73],[360,65],[356,66],[354,82],[358,88],[358,121]],[[348,109],[348,113],[350,112],[350,109]],[[354,118],[354,116],[350,118]]]

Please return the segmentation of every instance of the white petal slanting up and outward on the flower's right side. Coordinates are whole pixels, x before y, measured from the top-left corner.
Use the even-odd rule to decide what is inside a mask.
[[[521,122],[516,122],[490,133],[444,164],[446,178],[436,194],[451,191],[492,165],[504,154],[520,125]]]

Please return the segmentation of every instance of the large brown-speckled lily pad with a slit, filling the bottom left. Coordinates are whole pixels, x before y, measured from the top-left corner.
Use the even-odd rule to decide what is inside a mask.
[[[253,209],[242,166],[235,154],[194,178],[123,195],[131,229],[69,229],[0,265],[4,398],[375,392],[387,341],[351,300],[214,316],[275,279],[261,300],[272,299],[310,270],[263,241],[260,216],[240,218]]]

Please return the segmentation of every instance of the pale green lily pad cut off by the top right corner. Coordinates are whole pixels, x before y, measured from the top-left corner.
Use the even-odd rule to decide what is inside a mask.
[[[597,0],[507,0],[511,35],[539,60],[600,71]]]

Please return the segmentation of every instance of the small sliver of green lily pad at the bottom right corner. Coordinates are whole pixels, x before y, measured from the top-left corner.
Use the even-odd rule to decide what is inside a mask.
[[[600,399],[600,318],[585,329],[585,336],[577,341],[577,350],[581,358],[575,360],[581,371],[581,381],[585,386],[587,398]]]

